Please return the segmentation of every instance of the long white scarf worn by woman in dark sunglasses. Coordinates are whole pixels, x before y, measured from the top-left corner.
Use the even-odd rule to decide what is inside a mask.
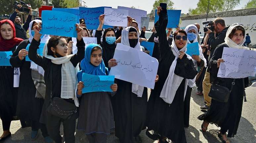
[[[178,50],[178,48],[175,44],[175,40],[174,39],[172,40],[171,50],[172,50],[173,55],[175,56],[175,59],[172,62],[172,65],[171,65],[170,70],[169,70],[168,77],[166,78],[165,83],[163,85],[163,89],[160,93],[160,97],[166,103],[171,104],[173,102],[176,91],[179,88],[182,80],[184,79],[183,77],[180,77],[180,76],[174,74],[174,70],[175,70],[175,67],[176,67],[176,64],[177,64],[177,59],[180,56],[180,51],[185,51],[186,52],[187,51],[187,45],[188,45],[188,42],[186,43],[186,45],[182,49]],[[186,54],[186,55],[187,55],[188,59],[192,59],[188,54]],[[186,81],[185,81],[184,99],[185,99],[185,96],[186,96],[187,87],[188,87],[188,79],[186,79]]]

